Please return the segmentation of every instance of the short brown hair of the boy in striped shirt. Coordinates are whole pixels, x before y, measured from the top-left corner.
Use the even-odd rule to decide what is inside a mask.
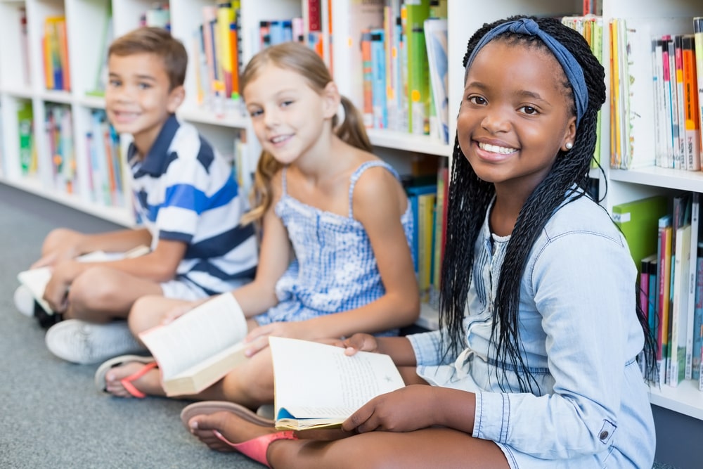
[[[138,27],[110,44],[108,57],[153,53],[163,60],[171,89],[183,86],[188,67],[188,52],[183,43],[162,27]]]

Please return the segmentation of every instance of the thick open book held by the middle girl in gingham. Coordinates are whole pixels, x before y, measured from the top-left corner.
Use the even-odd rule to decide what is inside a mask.
[[[167,396],[198,394],[247,359],[247,320],[231,293],[139,334],[161,371]]]

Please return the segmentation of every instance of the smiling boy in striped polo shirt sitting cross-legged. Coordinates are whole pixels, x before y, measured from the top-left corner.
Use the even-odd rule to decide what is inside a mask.
[[[231,167],[174,115],[187,63],[183,44],[161,28],[138,28],[110,46],[105,110],[115,130],[132,137],[127,156],[143,227],[99,235],[61,229],[47,237],[39,263],[51,264],[53,276],[45,299],[65,321],[49,328],[46,345],[62,359],[90,364],[141,348],[124,319],[143,295],[198,300],[254,276],[254,230],[239,222],[245,197]],[[134,259],[75,260],[140,244],[150,252]]]

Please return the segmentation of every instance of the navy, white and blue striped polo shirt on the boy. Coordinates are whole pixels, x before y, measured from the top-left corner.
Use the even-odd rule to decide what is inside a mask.
[[[152,250],[160,239],[188,245],[177,279],[214,295],[254,277],[254,229],[239,224],[246,197],[231,165],[193,125],[171,115],[146,158],[138,158],[132,143],[128,159],[136,214],[151,233]]]

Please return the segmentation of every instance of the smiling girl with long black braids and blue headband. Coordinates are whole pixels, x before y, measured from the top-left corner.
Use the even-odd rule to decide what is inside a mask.
[[[340,343],[389,354],[406,387],[333,441],[184,411],[212,449],[274,468],[652,467],[636,268],[585,191],[603,68],[577,32],[527,17],[482,27],[464,65],[441,328]]]

